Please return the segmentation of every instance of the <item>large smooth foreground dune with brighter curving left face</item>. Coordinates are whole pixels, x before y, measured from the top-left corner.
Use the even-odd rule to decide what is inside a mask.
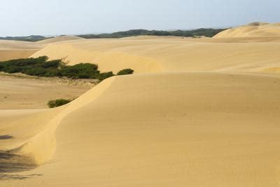
[[[273,76],[214,73],[111,78],[60,113],[41,113],[54,117],[22,151],[41,162],[56,147],[55,156],[15,176],[28,180],[1,183],[278,186],[279,83]]]

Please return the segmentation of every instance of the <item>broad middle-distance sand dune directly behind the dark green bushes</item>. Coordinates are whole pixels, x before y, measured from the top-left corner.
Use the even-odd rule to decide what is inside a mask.
[[[269,42],[268,42],[269,41]],[[132,68],[136,73],[168,71],[263,72],[280,67],[280,40],[91,39],[53,43],[32,57],[92,62],[102,71]]]

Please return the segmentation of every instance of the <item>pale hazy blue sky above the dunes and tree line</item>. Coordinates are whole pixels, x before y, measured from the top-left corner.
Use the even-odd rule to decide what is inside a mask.
[[[280,22],[279,0],[0,0],[0,36]]]

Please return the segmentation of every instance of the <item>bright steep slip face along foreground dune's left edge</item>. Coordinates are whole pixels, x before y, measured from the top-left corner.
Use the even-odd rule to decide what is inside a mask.
[[[94,99],[97,99],[99,95],[102,95],[102,92],[111,85],[114,78],[109,78],[106,81],[100,83],[96,88],[93,88],[89,92],[86,92],[81,97],[78,97],[73,102],[66,106],[55,109],[55,113],[52,113],[52,117],[49,117],[49,120],[46,120],[41,128],[41,131],[38,132],[34,137],[22,141],[21,144],[17,147],[12,147],[10,150],[20,148],[21,155],[25,155],[31,160],[34,161],[36,165],[42,165],[52,158],[53,153],[55,152],[55,130],[59,122],[69,115],[69,113],[79,109],[81,106],[84,106],[87,103],[93,102]],[[13,111],[11,111],[13,112]],[[45,118],[42,113],[39,118]],[[2,147],[3,149],[3,147]],[[1,146],[0,146],[1,150]],[[7,148],[6,148],[7,150]]]

